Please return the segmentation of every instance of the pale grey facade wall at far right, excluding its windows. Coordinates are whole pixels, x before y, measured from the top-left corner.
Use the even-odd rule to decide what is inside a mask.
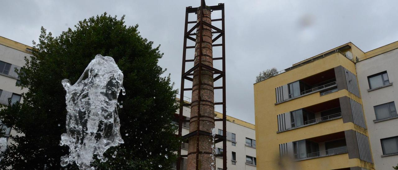
[[[398,117],[392,117],[382,121],[376,120],[374,106],[394,102],[397,106],[398,87],[395,80],[398,79],[398,49],[384,52],[377,56],[367,58],[357,62],[357,75],[359,87],[362,95],[363,108],[366,116],[366,123],[375,160],[375,168],[380,170],[392,169],[398,163],[398,153],[384,155],[380,139],[398,136],[396,130],[398,125]],[[370,90],[368,76],[386,71],[389,82],[387,85],[379,89]]]

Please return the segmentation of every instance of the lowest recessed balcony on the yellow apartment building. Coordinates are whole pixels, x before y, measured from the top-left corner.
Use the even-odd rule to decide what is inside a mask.
[[[344,131],[293,142],[297,161],[348,153]]]

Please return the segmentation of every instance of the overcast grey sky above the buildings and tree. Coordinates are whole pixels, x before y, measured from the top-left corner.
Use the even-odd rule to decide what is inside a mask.
[[[260,71],[283,70],[350,41],[367,52],[398,40],[395,0],[206,3],[225,4],[227,114],[253,124],[253,83]],[[125,14],[126,25],[139,24],[142,37],[161,44],[164,57],[159,64],[168,69],[178,89],[185,7],[197,7],[200,0],[2,0],[0,4],[0,36],[27,45],[38,39],[41,26],[59,35],[93,15]]]

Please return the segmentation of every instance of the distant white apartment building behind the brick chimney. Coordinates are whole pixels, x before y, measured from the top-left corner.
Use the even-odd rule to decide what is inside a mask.
[[[177,100],[179,102],[179,99]],[[189,101],[188,101],[189,102]],[[178,114],[174,124],[178,126]],[[191,115],[191,108],[183,107],[183,116],[187,120]],[[215,112],[215,118],[222,118],[222,114]],[[228,170],[256,170],[256,130],[254,124],[226,116],[227,130],[227,167]],[[182,135],[189,133],[189,123],[183,123]],[[178,127],[177,127],[178,128]],[[216,133],[222,135],[222,122],[215,123]],[[187,155],[188,143],[181,145],[181,155]],[[222,143],[216,144],[216,154],[221,154],[224,150]],[[187,169],[187,158],[181,161],[181,170]],[[222,170],[222,158],[216,158],[216,170]]]

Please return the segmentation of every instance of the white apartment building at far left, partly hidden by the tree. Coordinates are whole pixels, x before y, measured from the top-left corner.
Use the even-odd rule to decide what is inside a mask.
[[[11,103],[23,101],[21,93],[27,92],[27,89],[21,90],[16,86],[19,79],[15,68],[20,70],[25,65],[24,57],[31,56],[31,49],[31,46],[0,36],[0,104],[8,104],[8,99],[11,99]],[[1,120],[0,127],[4,129],[5,133],[5,136],[0,137],[0,141],[7,141],[9,144],[11,141],[8,140],[8,137],[10,134],[16,135],[16,131],[1,124]]]

